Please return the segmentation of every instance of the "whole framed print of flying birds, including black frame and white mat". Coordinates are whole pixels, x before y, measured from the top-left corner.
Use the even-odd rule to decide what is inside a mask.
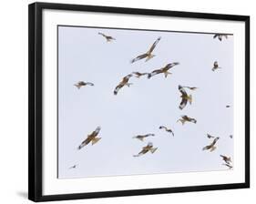
[[[28,198],[250,187],[250,16],[29,5]]]

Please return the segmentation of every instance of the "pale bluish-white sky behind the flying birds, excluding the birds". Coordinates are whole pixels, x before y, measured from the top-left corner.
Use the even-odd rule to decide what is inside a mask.
[[[117,38],[107,43],[98,32]],[[213,39],[210,34],[189,34],[88,27],[58,28],[58,177],[82,178],[133,174],[225,170],[220,154],[233,155],[233,36]],[[161,36],[148,62],[129,61],[145,53]],[[217,60],[222,69],[212,72]],[[150,72],[179,62],[163,75],[131,78],[131,87],[113,90],[133,71]],[[89,81],[94,87],[73,85]],[[192,105],[179,110],[178,86],[199,87]],[[230,105],[230,108],[226,108]],[[180,115],[197,124],[177,123]],[[160,130],[164,125],[175,137]],[[77,150],[93,130],[101,127],[96,145]],[[154,133],[144,142],[132,138]],[[217,149],[202,151],[220,137]],[[236,137],[236,136],[234,136]],[[152,142],[158,150],[132,157]],[[77,165],[77,168],[69,169]]]

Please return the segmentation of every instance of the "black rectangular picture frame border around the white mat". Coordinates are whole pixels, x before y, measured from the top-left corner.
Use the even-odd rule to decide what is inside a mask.
[[[133,189],[92,193],[76,193],[64,195],[42,194],[42,122],[43,122],[43,96],[42,96],[42,11],[44,9],[57,9],[68,11],[91,11],[128,15],[155,15],[176,16],[187,18],[201,18],[214,20],[231,20],[245,23],[245,182],[221,185],[206,185],[161,189]],[[108,7],[94,5],[67,5],[34,3],[28,9],[28,199],[33,201],[67,200],[67,199],[93,199],[106,197],[121,197],[147,194],[162,194],[188,191],[217,190],[217,189],[244,189],[250,188],[250,16],[247,15],[219,15],[191,12],[177,12],[167,10],[148,10],[138,8]]]

